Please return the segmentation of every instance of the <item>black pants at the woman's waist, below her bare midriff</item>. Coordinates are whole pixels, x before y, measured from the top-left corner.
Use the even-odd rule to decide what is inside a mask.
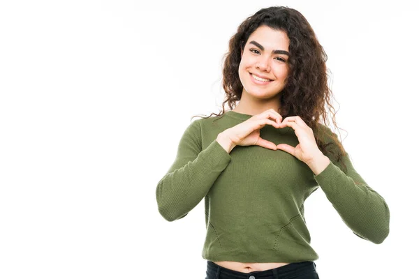
[[[252,271],[244,273],[233,271],[207,261],[207,277],[205,279],[319,279],[314,262],[293,262],[276,269]]]

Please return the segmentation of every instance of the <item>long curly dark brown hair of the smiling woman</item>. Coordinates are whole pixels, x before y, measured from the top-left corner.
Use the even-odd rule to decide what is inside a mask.
[[[306,18],[297,10],[284,6],[272,6],[263,8],[257,13],[247,17],[237,28],[229,42],[228,52],[223,56],[223,89],[226,92],[221,116],[225,113],[225,104],[233,110],[237,101],[242,97],[243,86],[239,78],[239,64],[241,51],[244,49],[251,33],[260,26],[267,26],[274,30],[284,31],[289,38],[288,59],[289,75],[286,78],[286,86],[278,94],[280,100],[280,114],[285,119],[288,116],[300,116],[309,126],[316,138],[318,148],[326,155],[331,154],[333,161],[341,162],[342,156],[346,155],[344,147],[339,142],[337,135],[328,128],[328,114],[325,104],[332,113],[332,122],[335,121],[335,108],[330,102],[333,97],[328,86],[328,73],[325,62],[328,56],[323,47],[318,43],[316,34]],[[192,116],[192,118],[195,116]],[[191,119],[192,119],[191,118]],[[322,119],[323,124],[320,120]],[[330,148],[328,147],[330,146]],[[346,172],[346,166],[344,172]]]

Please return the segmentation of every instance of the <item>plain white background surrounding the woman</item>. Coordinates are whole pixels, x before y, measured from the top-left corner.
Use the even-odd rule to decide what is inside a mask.
[[[167,222],[156,185],[191,116],[219,112],[228,40],[274,5],[314,28],[345,149],[390,207],[376,245],[307,199],[320,278],[414,277],[418,10],[337,2],[1,1],[0,278],[205,278],[203,202]]]

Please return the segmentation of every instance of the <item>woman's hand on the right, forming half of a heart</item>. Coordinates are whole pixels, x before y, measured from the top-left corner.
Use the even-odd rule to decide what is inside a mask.
[[[291,127],[295,131],[299,144],[293,147],[288,144],[278,144],[277,149],[281,149],[310,165],[316,158],[323,156],[323,153],[316,144],[313,130],[307,126],[300,116],[288,116],[279,123],[279,128]]]

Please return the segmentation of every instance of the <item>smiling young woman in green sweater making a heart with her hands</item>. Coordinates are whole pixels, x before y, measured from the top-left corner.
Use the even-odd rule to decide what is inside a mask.
[[[326,59],[292,8],[263,8],[230,39],[223,109],[186,128],[156,188],[168,221],[205,198],[206,279],[318,278],[304,200],[319,187],[355,235],[388,236],[388,205],[325,122]]]

